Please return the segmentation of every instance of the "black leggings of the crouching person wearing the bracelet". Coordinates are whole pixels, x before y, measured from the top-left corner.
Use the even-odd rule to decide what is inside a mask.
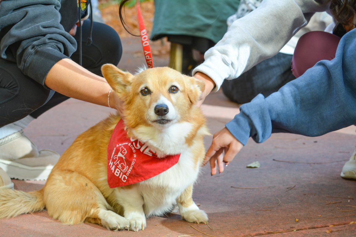
[[[119,63],[122,45],[114,29],[103,23],[93,23],[93,43],[90,46],[86,45],[90,28],[89,20],[84,21],[82,26],[82,65],[94,74],[101,75],[101,65]],[[74,38],[78,43],[79,30]],[[78,50],[74,52],[71,59],[79,62]],[[16,63],[0,59],[0,127],[29,114],[37,118],[68,98],[58,92],[47,90],[35,80],[23,75]]]

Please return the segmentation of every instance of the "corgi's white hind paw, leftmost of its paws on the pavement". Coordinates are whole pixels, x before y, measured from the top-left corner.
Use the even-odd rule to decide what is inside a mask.
[[[118,231],[129,228],[130,222],[125,217],[116,214],[113,211],[103,210],[99,213],[101,225],[108,230]]]

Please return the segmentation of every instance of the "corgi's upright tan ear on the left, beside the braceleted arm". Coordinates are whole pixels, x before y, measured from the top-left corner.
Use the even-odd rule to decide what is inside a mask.
[[[130,72],[121,71],[113,64],[108,63],[101,66],[101,73],[119,96],[127,92],[131,85],[133,75]]]

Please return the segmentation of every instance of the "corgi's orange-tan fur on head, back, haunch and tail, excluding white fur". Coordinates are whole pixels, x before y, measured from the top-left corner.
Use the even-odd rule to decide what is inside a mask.
[[[205,154],[203,136],[208,134],[208,131],[205,119],[194,103],[204,86],[194,78],[181,75],[169,68],[147,69],[135,76],[122,72],[113,65],[104,65],[102,71],[110,86],[125,101],[124,117],[130,137],[134,137],[135,129],[139,126],[152,126],[152,123],[147,120],[146,112],[160,95],[174,105],[180,115],[177,123],[188,122],[193,125],[186,136],[185,144],[194,147],[192,160],[194,170],[198,172]],[[166,90],[173,82],[179,84],[179,95],[171,95]],[[149,86],[152,96],[142,96],[140,94],[142,86]],[[119,120],[119,114],[111,114],[80,134],[63,153],[41,190],[30,193],[1,190],[0,218],[14,217],[46,208],[51,217],[66,224],[91,222],[111,230],[129,226],[131,230],[143,230],[146,223],[140,224],[141,228],[137,224],[138,221],[133,224],[132,221],[126,220],[126,216],[123,217],[127,215],[124,207],[117,201],[118,190],[129,191],[137,188],[138,184],[113,189],[108,186],[107,147],[111,133]],[[147,143],[150,144],[150,141]],[[153,146],[151,149],[157,154],[161,152]],[[152,187],[152,193],[160,192],[162,189],[158,184],[157,187]],[[192,190],[193,183],[177,196],[177,204],[184,208],[193,205]],[[205,213],[204,215],[206,216]],[[195,217],[189,218],[187,220],[192,222],[208,220],[207,217],[197,217],[198,221]],[[112,222],[113,219],[115,220]],[[135,227],[132,227],[133,225]]]

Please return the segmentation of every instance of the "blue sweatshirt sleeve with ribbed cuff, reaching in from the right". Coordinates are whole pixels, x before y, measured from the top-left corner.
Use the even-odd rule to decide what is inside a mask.
[[[321,60],[267,98],[240,107],[226,128],[242,144],[272,132],[320,136],[356,124],[356,29],[345,34],[333,60]]]

